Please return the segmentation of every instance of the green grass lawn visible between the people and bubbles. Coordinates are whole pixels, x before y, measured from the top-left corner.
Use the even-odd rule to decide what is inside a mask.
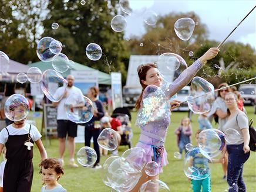
[[[247,107],[249,118],[254,118],[254,126],[256,126],[256,115],[253,114],[253,108]],[[133,145],[139,140],[140,129],[134,126],[136,120],[136,112],[132,112],[132,125],[133,125]],[[166,138],[166,150],[168,153],[169,164],[164,167],[163,173],[160,174],[160,180],[164,181],[171,191],[191,191],[190,181],[183,173],[183,160],[174,159],[173,153],[178,151],[176,145],[176,136],[174,135],[174,129],[180,125],[180,120],[187,115],[187,112],[173,112],[171,115],[171,124]],[[193,115],[192,125],[193,132],[198,129],[197,115]],[[39,131],[41,130],[42,119],[37,119]],[[216,127],[216,126],[215,126]],[[44,142],[44,140],[43,140]],[[193,134],[193,145],[196,145]],[[79,150],[83,143],[76,145],[76,151]],[[128,149],[128,146],[120,146],[119,155]],[[53,139],[51,146],[46,146],[48,157],[58,157],[58,140]],[[40,155],[36,147],[34,148],[34,176],[32,191],[41,191],[42,179],[39,175],[38,164],[40,162]],[[184,157],[184,154],[183,154]],[[103,164],[107,157],[102,157],[100,163]],[[68,164],[68,151],[65,152],[65,162]],[[212,191],[226,191],[227,181],[222,180],[223,170],[221,164],[210,164],[211,167],[211,187]],[[90,168],[79,166],[79,168],[71,168],[65,166],[65,174],[60,178],[59,183],[68,191],[111,191],[111,188],[105,186],[101,179],[102,171],[93,170]],[[247,191],[256,191],[256,152],[251,152],[250,158],[245,163],[244,167],[244,180],[247,185]]]

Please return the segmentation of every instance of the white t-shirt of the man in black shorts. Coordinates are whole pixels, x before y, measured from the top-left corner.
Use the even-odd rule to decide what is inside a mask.
[[[69,95],[73,95],[75,97],[76,102],[83,102],[83,93],[82,91],[75,87],[72,86],[71,88],[67,87],[66,91],[68,92],[68,94],[66,95],[65,98],[62,98],[58,104],[58,110],[57,110],[57,119],[60,120],[68,120],[68,116],[66,115],[66,108],[65,108],[65,102],[67,100],[67,98],[69,97]],[[58,90],[55,92],[54,97],[56,98],[60,98],[62,97],[62,95],[65,92],[65,87],[59,87]]]

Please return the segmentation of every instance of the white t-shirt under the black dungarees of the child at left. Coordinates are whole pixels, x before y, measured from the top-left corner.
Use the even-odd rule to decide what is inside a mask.
[[[25,135],[29,133],[29,126],[30,124],[25,124],[23,128],[14,128],[14,126],[11,124],[6,128],[8,129],[9,135]],[[0,143],[3,145],[5,145],[7,142],[8,132],[5,128],[0,132]],[[34,142],[42,137],[41,133],[38,131],[35,125],[31,125],[30,135]]]

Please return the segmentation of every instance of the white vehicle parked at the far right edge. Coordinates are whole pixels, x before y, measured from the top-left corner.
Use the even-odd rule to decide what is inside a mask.
[[[241,84],[239,89],[244,104],[254,105],[256,102],[256,84]]]

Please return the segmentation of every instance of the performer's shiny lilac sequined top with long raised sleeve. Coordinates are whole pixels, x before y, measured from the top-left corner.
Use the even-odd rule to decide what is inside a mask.
[[[140,142],[164,146],[171,115],[169,98],[186,86],[202,66],[200,60],[196,60],[172,83],[145,88],[136,121],[136,125],[142,129]]]

